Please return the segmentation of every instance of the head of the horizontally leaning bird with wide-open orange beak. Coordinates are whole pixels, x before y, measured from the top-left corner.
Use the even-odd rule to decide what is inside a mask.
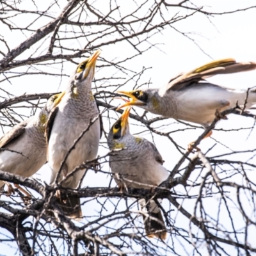
[[[127,106],[140,106],[141,108],[145,108],[148,104],[148,100],[150,99],[149,90],[134,90],[131,92],[118,91],[118,93],[122,93],[130,97],[131,100],[125,100],[125,103],[119,106],[116,110]]]

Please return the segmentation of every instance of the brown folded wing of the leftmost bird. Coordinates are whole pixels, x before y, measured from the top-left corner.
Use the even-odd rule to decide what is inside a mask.
[[[17,139],[21,134],[25,132],[26,126],[28,125],[30,119],[20,122],[15,125],[10,131],[6,132],[4,136],[0,139],[0,148],[3,148],[8,143]]]

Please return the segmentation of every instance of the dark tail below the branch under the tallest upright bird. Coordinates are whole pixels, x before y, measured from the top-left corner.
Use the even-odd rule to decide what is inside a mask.
[[[67,197],[66,200],[57,198],[58,205],[66,216],[72,219],[80,219],[83,217],[80,198],[78,197]]]

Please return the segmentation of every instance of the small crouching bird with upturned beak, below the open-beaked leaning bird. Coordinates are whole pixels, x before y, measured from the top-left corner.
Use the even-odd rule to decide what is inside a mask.
[[[163,158],[156,146],[145,138],[133,136],[129,131],[129,113],[126,108],[122,116],[116,120],[108,134],[108,147],[111,150],[109,165],[118,188],[152,189],[166,180],[170,173],[163,166]],[[166,239],[161,209],[154,200],[140,201],[145,232],[148,237]]]

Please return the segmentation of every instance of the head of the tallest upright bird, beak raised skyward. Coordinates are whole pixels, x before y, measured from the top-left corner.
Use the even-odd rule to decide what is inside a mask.
[[[95,51],[90,58],[77,65],[76,71],[70,77],[71,90],[74,97],[78,95],[79,88],[91,89],[92,79],[95,74],[96,61],[100,52],[101,50]],[[68,86],[70,85],[68,84]]]

